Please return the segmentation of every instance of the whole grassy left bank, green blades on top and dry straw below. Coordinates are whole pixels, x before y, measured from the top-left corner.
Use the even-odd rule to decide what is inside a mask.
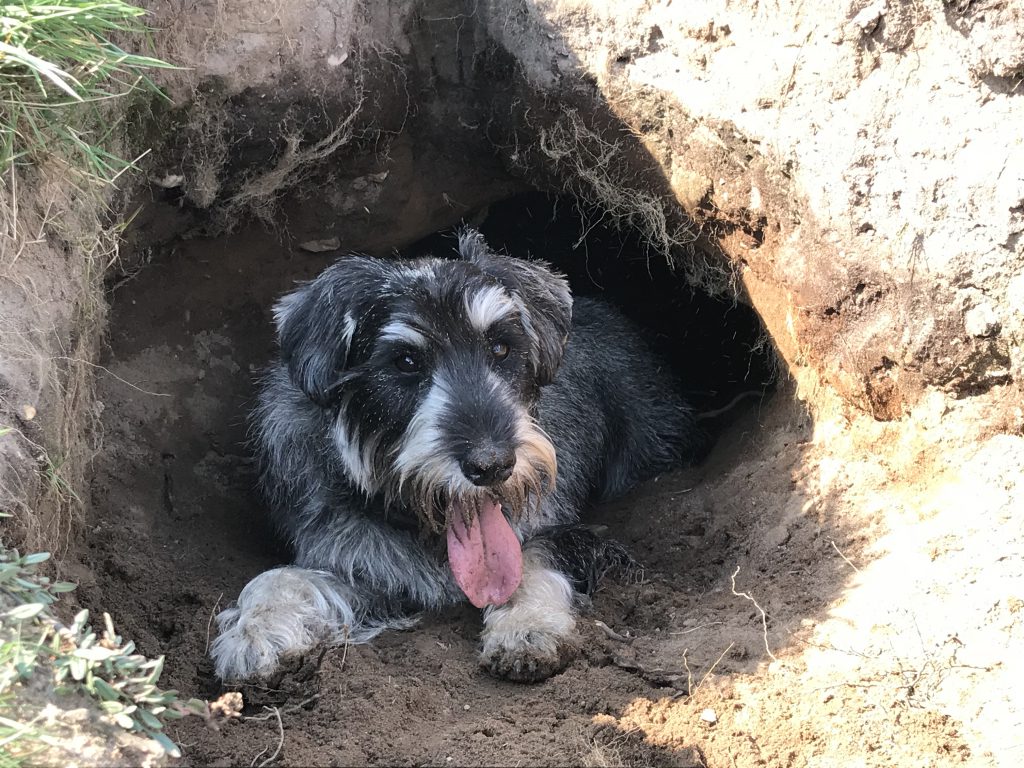
[[[59,555],[91,457],[90,366],[120,236],[111,200],[132,167],[120,160],[130,148],[124,96],[156,93],[143,71],[166,65],[113,42],[144,38],[137,7],[75,0],[8,10],[5,45],[19,54],[0,78],[0,426],[11,430],[0,503],[15,515],[6,543]]]

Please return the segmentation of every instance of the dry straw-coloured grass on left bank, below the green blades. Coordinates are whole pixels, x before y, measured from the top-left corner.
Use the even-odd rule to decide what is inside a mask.
[[[59,555],[80,519],[92,455],[91,364],[120,232],[108,224],[109,193],[75,183],[60,162],[12,166],[3,183],[12,194],[0,199],[0,423],[14,428],[7,439],[20,441],[16,453],[37,476],[26,461],[0,471],[0,501],[15,515],[15,544]],[[27,408],[39,418],[26,419]]]

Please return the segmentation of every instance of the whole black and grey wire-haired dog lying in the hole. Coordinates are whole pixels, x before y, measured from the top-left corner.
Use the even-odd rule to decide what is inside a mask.
[[[342,258],[276,305],[254,428],[295,564],[217,617],[221,678],[466,598],[487,670],[548,677],[579,593],[629,560],[581,511],[695,451],[690,408],[618,313],[471,229],[458,257]]]

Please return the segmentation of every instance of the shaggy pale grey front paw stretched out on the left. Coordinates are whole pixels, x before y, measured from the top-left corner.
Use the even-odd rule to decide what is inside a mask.
[[[358,595],[324,570],[274,568],[253,579],[217,616],[210,648],[222,680],[272,673],[283,656],[321,642],[367,642],[383,629],[360,615]]]

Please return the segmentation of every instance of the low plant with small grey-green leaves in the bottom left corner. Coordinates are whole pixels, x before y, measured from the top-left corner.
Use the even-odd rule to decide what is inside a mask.
[[[18,694],[30,687],[48,698],[91,697],[111,721],[177,757],[177,746],[163,732],[165,723],[186,715],[209,718],[209,706],[162,690],[157,682],[163,656],[136,653],[134,643],[114,631],[110,614],[103,614],[99,635],[89,626],[87,610],[70,627],[61,625],[51,606],[75,585],[40,575],[36,568],[48,558],[46,552],[0,551],[0,766],[19,765],[52,741],[42,716],[17,706]]]

